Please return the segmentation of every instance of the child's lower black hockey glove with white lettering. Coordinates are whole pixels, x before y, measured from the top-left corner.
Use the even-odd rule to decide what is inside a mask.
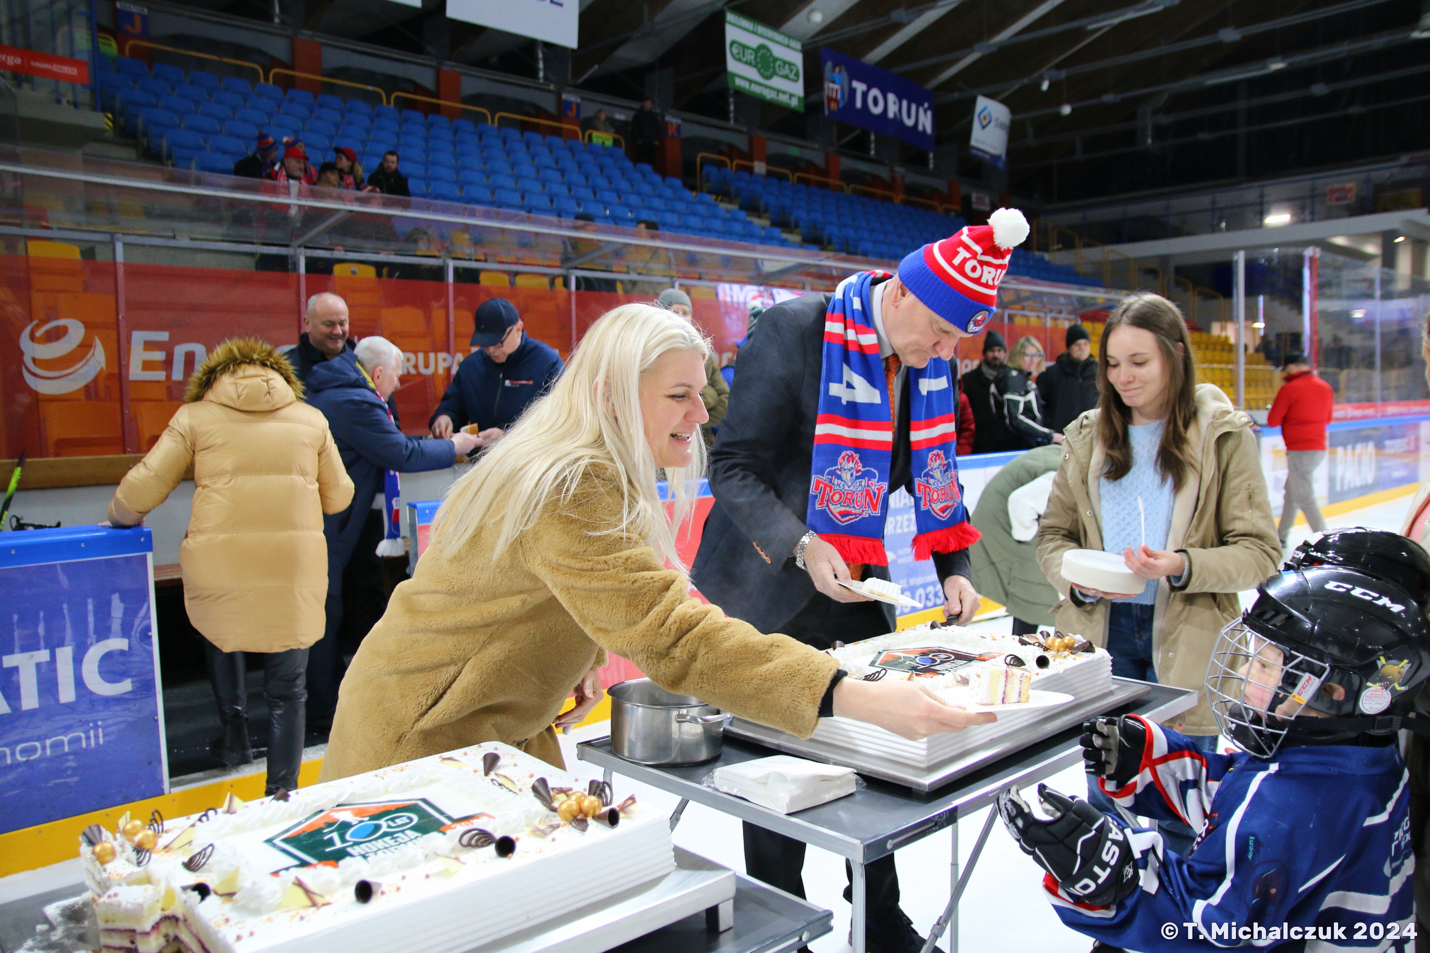
[[[1140,883],[1127,830],[1093,804],[1038,784],[1038,800],[1052,820],[1041,820],[1015,789],[998,794],[1008,833],[1070,896],[1105,907],[1131,896]]]

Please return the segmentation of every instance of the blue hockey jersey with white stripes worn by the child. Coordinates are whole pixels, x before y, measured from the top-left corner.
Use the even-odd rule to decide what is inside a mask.
[[[1270,760],[1207,754],[1147,723],[1121,807],[1200,830],[1187,857],[1134,829],[1141,889],[1110,907],[1044,879],[1057,914],[1127,950],[1406,950],[1414,933],[1409,773],[1389,747],[1298,746]]]

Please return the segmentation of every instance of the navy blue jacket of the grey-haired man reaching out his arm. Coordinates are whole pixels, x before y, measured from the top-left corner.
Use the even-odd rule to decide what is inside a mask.
[[[342,513],[323,516],[327,537],[327,592],[342,590],[343,567],[358,544],[372,502],[382,493],[383,473],[442,470],[456,460],[450,440],[422,440],[398,430],[388,404],[372,389],[352,351],[307,371],[307,403],[323,411],[337,453],[353,482],[353,502]]]

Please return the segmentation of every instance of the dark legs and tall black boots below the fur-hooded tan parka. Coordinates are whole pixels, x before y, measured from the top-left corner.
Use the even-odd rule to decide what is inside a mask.
[[[220,652],[209,640],[204,640],[203,647],[213,699],[219,704],[219,723],[223,726],[213,753],[226,764],[246,764],[253,760],[253,754],[249,749],[245,653]],[[306,670],[307,649],[263,654],[263,699],[269,709],[267,794],[279,787],[297,789],[297,769],[303,763]]]

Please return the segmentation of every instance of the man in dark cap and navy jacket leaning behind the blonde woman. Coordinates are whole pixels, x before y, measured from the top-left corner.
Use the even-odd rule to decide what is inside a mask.
[[[555,349],[529,337],[516,306],[505,297],[476,309],[472,353],[456,369],[432,420],[432,436],[478,426],[478,446],[499,440],[531,401],[542,396],[565,364]]]

